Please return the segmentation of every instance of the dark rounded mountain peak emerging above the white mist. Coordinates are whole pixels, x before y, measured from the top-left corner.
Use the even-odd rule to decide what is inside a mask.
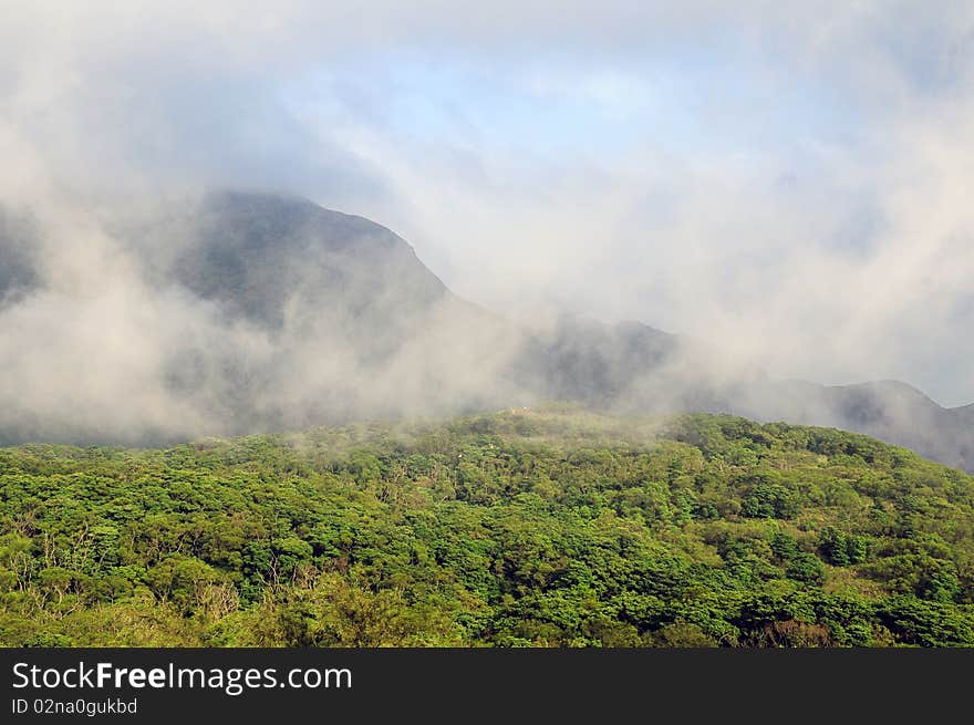
[[[393,315],[447,294],[402,237],[309,199],[220,190],[190,217],[172,276],[234,317],[279,328],[296,310]]]

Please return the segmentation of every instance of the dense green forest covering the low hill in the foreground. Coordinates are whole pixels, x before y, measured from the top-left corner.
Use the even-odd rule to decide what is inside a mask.
[[[974,478],[571,405],[0,448],[6,646],[974,645]]]

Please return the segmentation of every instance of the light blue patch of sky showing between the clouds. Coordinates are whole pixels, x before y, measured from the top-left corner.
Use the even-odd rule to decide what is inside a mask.
[[[462,49],[394,50],[311,68],[282,89],[298,114],[365,124],[405,143],[613,158],[647,139],[667,152],[787,157],[810,141],[854,144],[866,110],[814,76],[733,48],[624,59]]]

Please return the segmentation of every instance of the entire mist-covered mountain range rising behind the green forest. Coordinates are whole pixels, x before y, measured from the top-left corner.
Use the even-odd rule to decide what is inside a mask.
[[[122,297],[135,302],[123,310],[134,318],[126,329],[155,324],[142,343],[153,352],[135,355],[137,374],[106,366],[107,380],[92,381],[101,385],[87,379],[43,405],[25,391],[48,381],[25,364],[22,382],[11,379],[6,394],[0,384],[0,443],[148,445],[576,400],[613,412],[833,426],[974,470],[974,405],[946,410],[893,381],[773,380],[706,342],[639,322],[522,328],[457,298],[385,227],[305,199],[220,191],[110,215],[104,229],[112,253],[127,260]],[[41,234],[29,215],[0,214],[0,315],[29,300],[56,310],[71,299],[40,263]],[[85,293],[105,281],[90,280]],[[58,327],[72,311],[49,314],[52,331],[34,344],[76,335]],[[113,385],[134,394],[102,392]]]

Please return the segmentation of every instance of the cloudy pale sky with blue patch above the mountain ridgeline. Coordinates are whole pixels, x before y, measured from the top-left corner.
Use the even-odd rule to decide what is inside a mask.
[[[974,402],[971,2],[0,0],[0,164],[286,189],[508,314]]]

